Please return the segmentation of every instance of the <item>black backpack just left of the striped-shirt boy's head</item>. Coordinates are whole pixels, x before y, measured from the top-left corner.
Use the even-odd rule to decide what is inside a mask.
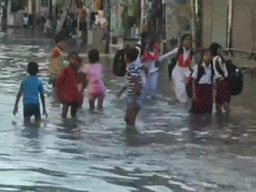
[[[124,77],[126,73],[125,49],[116,52],[113,62],[113,74],[118,77]]]

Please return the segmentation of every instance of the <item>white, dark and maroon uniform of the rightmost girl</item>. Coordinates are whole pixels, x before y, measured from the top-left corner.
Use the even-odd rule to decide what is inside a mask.
[[[215,56],[212,60],[214,67],[214,79],[216,80],[216,104],[224,104],[225,102],[230,102],[231,94],[228,84],[228,70],[225,62],[220,56]]]

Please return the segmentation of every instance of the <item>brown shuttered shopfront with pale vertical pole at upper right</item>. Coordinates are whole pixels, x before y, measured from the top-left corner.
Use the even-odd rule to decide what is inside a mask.
[[[255,0],[203,0],[201,45],[219,42],[227,51],[256,53]]]

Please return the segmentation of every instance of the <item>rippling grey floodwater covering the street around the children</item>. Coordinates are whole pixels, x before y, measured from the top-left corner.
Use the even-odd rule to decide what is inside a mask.
[[[53,44],[33,35],[0,33],[0,191],[256,191],[254,76],[228,116],[191,116],[177,104],[164,70],[159,98],[146,102],[140,133],[125,131],[124,79],[104,63],[108,94],[103,114],[62,120],[47,84]],[[49,118],[40,127],[12,115],[28,61],[40,63]]]

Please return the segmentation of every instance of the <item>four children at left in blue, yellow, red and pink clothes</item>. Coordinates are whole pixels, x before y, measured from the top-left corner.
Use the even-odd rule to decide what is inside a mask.
[[[99,63],[99,51],[92,49],[88,52],[89,65],[83,65],[83,60],[77,52],[68,54],[68,66],[64,67],[61,51],[65,47],[65,41],[57,36],[57,46],[50,55],[50,80],[54,87],[54,93],[58,101],[62,104],[61,116],[67,118],[68,109],[72,117],[75,117],[77,110],[81,108],[84,100],[84,89],[88,86],[88,100],[90,111],[95,110],[95,100],[98,100],[97,109],[102,111],[105,96],[105,86],[102,81],[102,66]],[[31,117],[35,116],[35,122],[40,122],[40,102],[42,100],[44,115],[47,116],[45,108],[44,85],[38,78],[38,64],[28,63],[26,77],[19,89],[13,115],[18,113],[20,97],[23,95],[24,121],[31,122]]]

